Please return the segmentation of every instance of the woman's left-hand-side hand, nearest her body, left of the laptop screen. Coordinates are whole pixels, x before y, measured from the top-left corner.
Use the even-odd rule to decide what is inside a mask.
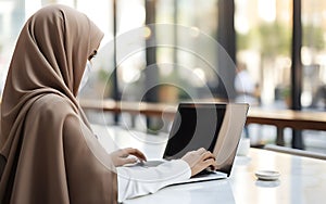
[[[131,156],[130,156],[131,155]],[[147,161],[142,152],[134,148],[121,149],[110,154],[114,166],[123,166],[125,164],[135,164],[138,161]]]

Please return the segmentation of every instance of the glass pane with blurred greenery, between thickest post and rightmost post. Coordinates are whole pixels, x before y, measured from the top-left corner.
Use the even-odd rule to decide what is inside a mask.
[[[259,98],[263,106],[288,109],[292,1],[235,2],[237,62],[248,72],[243,88],[251,90],[250,94]],[[252,85],[248,86],[250,82]]]

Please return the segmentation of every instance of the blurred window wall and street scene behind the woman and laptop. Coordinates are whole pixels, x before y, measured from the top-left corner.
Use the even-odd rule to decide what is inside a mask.
[[[0,0],[1,92],[23,24],[49,3],[78,9],[105,34],[82,99],[326,110],[326,1]],[[306,149],[326,152],[324,131],[299,133]],[[250,125],[249,135],[275,140],[269,126]]]

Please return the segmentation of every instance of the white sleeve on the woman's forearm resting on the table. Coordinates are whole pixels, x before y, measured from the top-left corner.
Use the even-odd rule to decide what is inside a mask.
[[[183,160],[163,163],[156,167],[117,167],[117,199],[154,193],[163,187],[191,177],[189,165]]]

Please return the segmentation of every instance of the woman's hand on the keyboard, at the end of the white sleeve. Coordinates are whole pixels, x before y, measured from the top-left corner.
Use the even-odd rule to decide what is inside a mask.
[[[215,156],[203,148],[188,152],[181,160],[190,166],[191,176],[197,175],[208,167],[212,170],[216,169]]]

